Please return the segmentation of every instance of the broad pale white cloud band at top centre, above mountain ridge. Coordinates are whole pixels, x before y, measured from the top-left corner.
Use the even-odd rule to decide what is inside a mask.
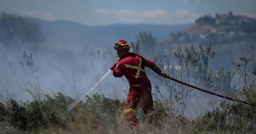
[[[144,11],[137,10],[108,10],[100,8],[93,11],[95,16],[110,23],[149,23],[149,24],[177,24],[192,23],[199,14],[188,10],[177,10],[166,12],[161,9],[151,9]],[[106,22],[106,21],[105,21]]]

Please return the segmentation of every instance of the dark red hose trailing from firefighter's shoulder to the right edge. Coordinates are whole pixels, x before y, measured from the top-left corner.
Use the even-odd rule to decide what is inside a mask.
[[[140,56],[139,54],[136,54],[136,55],[139,56],[139,57],[142,59],[142,61],[143,61],[150,69],[152,69],[152,70],[153,70],[154,72],[156,72],[157,74],[163,76],[162,72],[159,72],[158,70],[154,69],[148,62],[146,62],[146,60],[144,59],[144,57]],[[178,83],[181,83],[181,84],[183,84],[183,85],[186,85],[186,86],[188,86],[188,87],[192,87],[192,88],[194,88],[194,89],[200,90],[200,91],[202,91],[202,92],[206,92],[206,93],[208,93],[208,94],[212,94],[212,95],[215,95],[215,96],[218,96],[218,97],[222,97],[222,98],[225,98],[225,99],[229,99],[229,100],[233,100],[233,101],[236,101],[236,102],[244,103],[244,104],[247,104],[247,105],[256,106],[256,104],[254,104],[254,103],[248,103],[248,102],[246,102],[246,101],[242,101],[242,100],[234,99],[234,98],[231,98],[231,97],[228,97],[228,96],[225,96],[225,95],[217,94],[217,93],[214,93],[214,92],[211,92],[211,91],[208,91],[208,90],[205,90],[205,89],[202,89],[202,88],[199,88],[199,87],[190,85],[190,84],[188,84],[188,83],[185,83],[185,82],[183,82],[183,81],[177,80],[177,79],[172,78],[172,77],[170,77],[170,76],[167,76],[166,78],[168,78],[168,79],[170,79],[170,80],[172,80],[172,81],[176,81],[176,82],[178,82]]]

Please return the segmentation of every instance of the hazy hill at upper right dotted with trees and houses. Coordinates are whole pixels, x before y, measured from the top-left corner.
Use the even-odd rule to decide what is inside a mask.
[[[229,43],[251,39],[256,35],[256,19],[241,15],[216,14],[204,16],[180,33],[173,33],[169,41],[199,43]]]

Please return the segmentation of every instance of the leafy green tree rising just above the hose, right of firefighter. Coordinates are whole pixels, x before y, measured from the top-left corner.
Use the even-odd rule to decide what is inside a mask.
[[[177,52],[174,54],[175,57],[179,57]],[[231,70],[225,72],[223,66],[214,74],[212,70],[208,69],[209,58],[213,59],[214,54],[215,52],[211,52],[211,46],[203,50],[200,44],[199,52],[196,52],[193,45],[190,48],[185,47],[185,58],[183,60],[187,63],[188,74],[196,85],[200,84],[211,91],[219,93],[235,91],[235,86],[230,86],[230,82],[235,75],[234,72],[231,73]]]

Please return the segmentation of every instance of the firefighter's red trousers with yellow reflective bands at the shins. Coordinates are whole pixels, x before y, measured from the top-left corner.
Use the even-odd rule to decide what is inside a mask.
[[[124,103],[126,121],[130,128],[139,128],[139,122],[135,110],[141,106],[149,123],[158,122],[156,111],[153,107],[151,84],[146,86],[134,85],[130,87],[128,97]]]

